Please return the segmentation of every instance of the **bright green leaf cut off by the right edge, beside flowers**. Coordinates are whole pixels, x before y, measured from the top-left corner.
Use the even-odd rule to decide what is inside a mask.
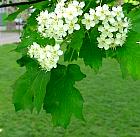
[[[131,75],[140,78],[140,34],[131,31],[123,47],[117,49],[116,58],[120,63],[123,77]]]

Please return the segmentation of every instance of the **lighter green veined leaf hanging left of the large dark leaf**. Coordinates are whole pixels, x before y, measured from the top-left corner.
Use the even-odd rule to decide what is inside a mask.
[[[36,108],[39,113],[43,105],[46,86],[50,79],[50,72],[39,69],[34,61],[26,65],[26,73],[13,86],[13,103],[16,111]]]

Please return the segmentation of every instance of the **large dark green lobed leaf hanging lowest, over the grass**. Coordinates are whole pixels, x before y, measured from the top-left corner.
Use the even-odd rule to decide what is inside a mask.
[[[83,98],[74,84],[84,77],[80,67],[75,64],[67,67],[58,65],[52,70],[50,82],[47,85],[44,109],[47,113],[51,113],[55,126],[66,128],[72,114],[83,119]]]

